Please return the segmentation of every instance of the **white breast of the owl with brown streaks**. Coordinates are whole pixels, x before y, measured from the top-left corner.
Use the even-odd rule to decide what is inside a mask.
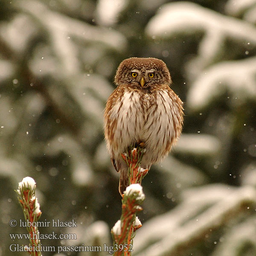
[[[110,128],[113,143],[109,150],[119,158],[126,148],[140,140],[146,152],[142,167],[148,168],[169,153],[179,135],[182,119],[182,102],[168,87],[141,93],[140,90],[124,90],[121,100],[113,104],[109,119],[115,127]]]

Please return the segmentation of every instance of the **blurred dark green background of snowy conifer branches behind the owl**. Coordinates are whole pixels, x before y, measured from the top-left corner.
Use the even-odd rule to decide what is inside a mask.
[[[143,180],[133,255],[256,255],[256,0],[1,0],[0,256],[11,252],[14,189],[37,183],[41,233],[111,245],[119,175],[103,136],[119,63],[166,62],[183,100],[183,135]],[[44,252],[44,256],[56,252]],[[57,255],[57,254],[56,254]],[[66,253],[58,255],[109,255]]]

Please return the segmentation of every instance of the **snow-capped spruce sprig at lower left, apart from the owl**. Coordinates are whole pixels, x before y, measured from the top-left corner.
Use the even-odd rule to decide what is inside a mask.
[[[35,197],[35,187],[35,180],[31,177],[25,177],[19,183],[18,189],[15,192],[17,192],[18,201],[23,209],[27,223],[26,228],[30,234],[29,246],[26,245],[24,249],[31,256],[42,256],[41,242],[38,239],[38,227],[34,225],[42,214],[38,199]]]

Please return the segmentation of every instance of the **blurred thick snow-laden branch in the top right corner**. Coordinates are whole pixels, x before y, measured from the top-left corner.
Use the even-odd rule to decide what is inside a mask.
[[[212,30],[216,31],[212,38],[215,41],[219,37],[230,36],[256,43],[256,29],[253,25],[189,2],[163,5],[145,29],[148,35],[160,37],[170,37],[180,31],[191,34],[198,30],[206,32],[206,36]]]

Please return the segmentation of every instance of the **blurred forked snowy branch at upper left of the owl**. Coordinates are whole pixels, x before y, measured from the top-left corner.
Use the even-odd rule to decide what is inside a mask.
[[[15,2],[17,9],[27,13],[35,24],[43,26],[48,33],[48,39],[55,55],[61,60],[61,76],[75,75],[81,70],[78,61],[79,44],[99,43],[117,52],[126,47],[125,37],[115,30],[105,27],[92,26],[80,20],[53,12],[43,3],[36,0]],[[40,75],[38,72],[37,75]]]

